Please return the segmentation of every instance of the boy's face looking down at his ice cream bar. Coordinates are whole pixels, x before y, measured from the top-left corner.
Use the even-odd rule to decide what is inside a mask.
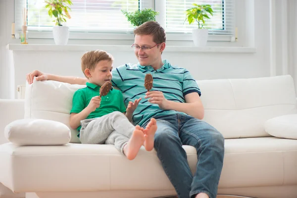
[[[112,61],[101,60],[94,70],[90,70],[89,80],[91,83],[102,86],[106,81],[111,81]]]

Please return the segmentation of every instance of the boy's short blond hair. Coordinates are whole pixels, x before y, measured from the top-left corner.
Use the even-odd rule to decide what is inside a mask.
[[[81,58],[82,71],[85,74],[86,69],[94,70],[97,63],[101,60],[109,60],[113,62],[113,57],[110,53],[103,50],[92,50],[84,53]],[[86,76],[88,78],[88,76]]]

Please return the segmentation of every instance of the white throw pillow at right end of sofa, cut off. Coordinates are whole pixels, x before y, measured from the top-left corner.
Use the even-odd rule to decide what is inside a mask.
[[[297,140],[297,114],[283,115],[267,120],[265,131],[278,138]]]

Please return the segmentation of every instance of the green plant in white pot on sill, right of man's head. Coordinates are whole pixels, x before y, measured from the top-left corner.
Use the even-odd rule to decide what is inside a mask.
[[[198,23],[198,29],[193,29],[193,41],[195,46],[203,47],[206,46],[208,38],[208,29],[204,29],[205,18],[210,19],[208,13],[213,16],[213,10],[211,5],[198,5],[193,3],[194,7],[187,9],[186,14],[189,24],[191,25],[195,21]]]

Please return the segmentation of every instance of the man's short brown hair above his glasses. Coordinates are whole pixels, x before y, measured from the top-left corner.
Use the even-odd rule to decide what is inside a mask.
[[[134,29],[135,35],[152,35],[156,44],[166,42],[165,30],[156,21],[148,21]]]

